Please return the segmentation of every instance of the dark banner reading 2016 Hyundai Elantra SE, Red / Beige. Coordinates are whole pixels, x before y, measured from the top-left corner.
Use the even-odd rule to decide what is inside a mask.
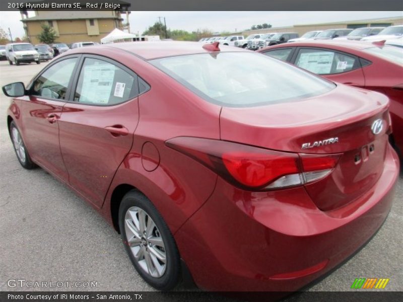
[[[0,0],[0,11],[397,11],[401,0]]]

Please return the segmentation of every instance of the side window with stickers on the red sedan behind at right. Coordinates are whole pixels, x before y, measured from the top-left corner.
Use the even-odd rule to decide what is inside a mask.
[[[317,74],[335,74],[360,67],[355,56],[325,49],[300,49],[295,65]]]

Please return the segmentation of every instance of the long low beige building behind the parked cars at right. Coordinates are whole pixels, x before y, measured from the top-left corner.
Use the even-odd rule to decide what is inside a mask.
[[[356,20],[356,21],[343,21],[343,22],[332,22],[332,23],[318,23],[318,24],[297,24],[293,26],[286,27],[272,27],[270,29],[257,29],[257,30],[247,30],[242,32],[244,36],[250,34],[258,33],[298,33],[302,36],[304,33],[313,30],[326,30],[333,28],[360,28],[360,27],[387,27],[392,25],[402,25],[403,17],[393,17],[393,18],[377,18],[377,19],[367,19],[367,20]]]

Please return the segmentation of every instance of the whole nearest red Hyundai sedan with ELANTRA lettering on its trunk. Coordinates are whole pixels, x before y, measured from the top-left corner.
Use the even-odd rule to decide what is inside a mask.
[[[362,246],[391,206],[387,97],[262,54],[86,47],[3,90],[21,165],[98,209],[158,289],[189,271],[209,290],[296,290]]]

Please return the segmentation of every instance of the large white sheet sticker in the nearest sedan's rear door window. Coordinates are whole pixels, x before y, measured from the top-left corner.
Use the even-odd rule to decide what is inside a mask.
[[[107,104],[112,91],[115,66],[96,63],[84,66],[83,88],[79,102]]]

